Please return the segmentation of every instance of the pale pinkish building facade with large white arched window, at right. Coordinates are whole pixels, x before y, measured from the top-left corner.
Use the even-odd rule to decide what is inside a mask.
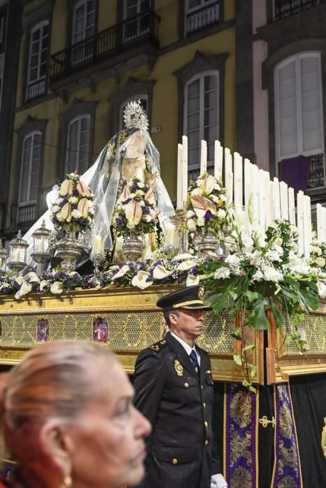
[[[306,160],[306,193],[326,201],[326,3],[253,0],[254,146],[258,164],[282,177]],[[266,114],[266,116],[265,116]],[[298,164],[298,171],[302,171]],[[296,175],[293,175],[295,178]]]

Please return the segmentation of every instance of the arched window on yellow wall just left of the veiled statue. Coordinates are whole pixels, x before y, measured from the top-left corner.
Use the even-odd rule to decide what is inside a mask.
[[[64,172],[83,174],[89,167],[91,116],[81,115],[68,123]]]

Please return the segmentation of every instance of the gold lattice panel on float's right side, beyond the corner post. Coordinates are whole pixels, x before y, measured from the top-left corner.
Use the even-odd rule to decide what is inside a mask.
[[[286,328],[288,335],[295,330],[289,317],[286,317],[286,327],[283,330]],[[309,355],[326,353],[326,314],[309,314],[302,323],[301,333],[302,339],[306,340]],[[284,354],[287,356],[297,355],[299,352],[299,346],[295,342],[284,344]]]

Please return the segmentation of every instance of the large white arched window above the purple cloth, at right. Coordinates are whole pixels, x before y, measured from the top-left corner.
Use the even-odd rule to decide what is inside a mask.
[[[309,188],[325,186],[322,75],[319,52],[302,52],[274,70],[276,160],[311,160]]]

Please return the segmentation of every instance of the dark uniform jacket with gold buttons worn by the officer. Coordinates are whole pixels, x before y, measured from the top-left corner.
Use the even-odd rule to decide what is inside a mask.
[[[208,354],[195,372],[184,347],[170,333],[149,346],[135,364],[135,406],[151,422],[141,488],[209,488],[221,473],[212,460],[213,379]]]

